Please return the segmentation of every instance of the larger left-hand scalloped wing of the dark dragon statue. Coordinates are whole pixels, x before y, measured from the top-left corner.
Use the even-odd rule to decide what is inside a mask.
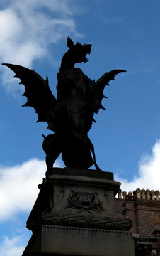
[[[30,106],[35,109],[35,112],[38,114],[37,122],[44,121],[49,124],[48,112],[55,107],[56,99],[48,85],[48,78],[44,80],[34,70],[21,65],[8,63],[3,63],[2,65],[6,65],[13,70],[15,77],[21,80],[20,84],[25,86],[23,96],[27,97],[27,102],[23,106]]]

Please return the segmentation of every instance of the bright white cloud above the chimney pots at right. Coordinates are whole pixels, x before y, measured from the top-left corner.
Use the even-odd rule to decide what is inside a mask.
[[[151,155],[142,156],[138,174],[132,181],[122,179],[118,174],[115,175],[115,179],[122,183],[122,191],[134,191],[136,188],[160,190],[160,140],[154,144]]]

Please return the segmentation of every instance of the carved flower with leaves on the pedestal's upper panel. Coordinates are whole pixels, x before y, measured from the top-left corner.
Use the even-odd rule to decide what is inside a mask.
[[[68,203],[65,208],[77,209],[79,210],[79,213],[84,210],[90,214],[92,211],[100,213],[104,210],[102,202],[95,193],[72,191],[67,200]]]

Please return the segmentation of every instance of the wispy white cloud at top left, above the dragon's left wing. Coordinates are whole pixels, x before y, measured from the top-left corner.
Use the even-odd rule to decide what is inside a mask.
[[[70,34],[79,37],[72,18],[74,1],[11,0],[0,11],[0,60],[31,68],[34,60],[47,56],[50,43]],[[72,8],[71,8],[72,4]],[[77,10],[76,10],[77,11]],[[11,91],[11,72],[0,68],[6,89]],[[17,87],[13,84],[13,88]]]

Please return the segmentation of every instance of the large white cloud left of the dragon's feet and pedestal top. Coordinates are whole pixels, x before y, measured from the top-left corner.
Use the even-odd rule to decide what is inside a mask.
[[[45,171],[45,161],[38,159],[13,167],[0,166],[0,221],[12,218],[19,211],[31,210]]]

